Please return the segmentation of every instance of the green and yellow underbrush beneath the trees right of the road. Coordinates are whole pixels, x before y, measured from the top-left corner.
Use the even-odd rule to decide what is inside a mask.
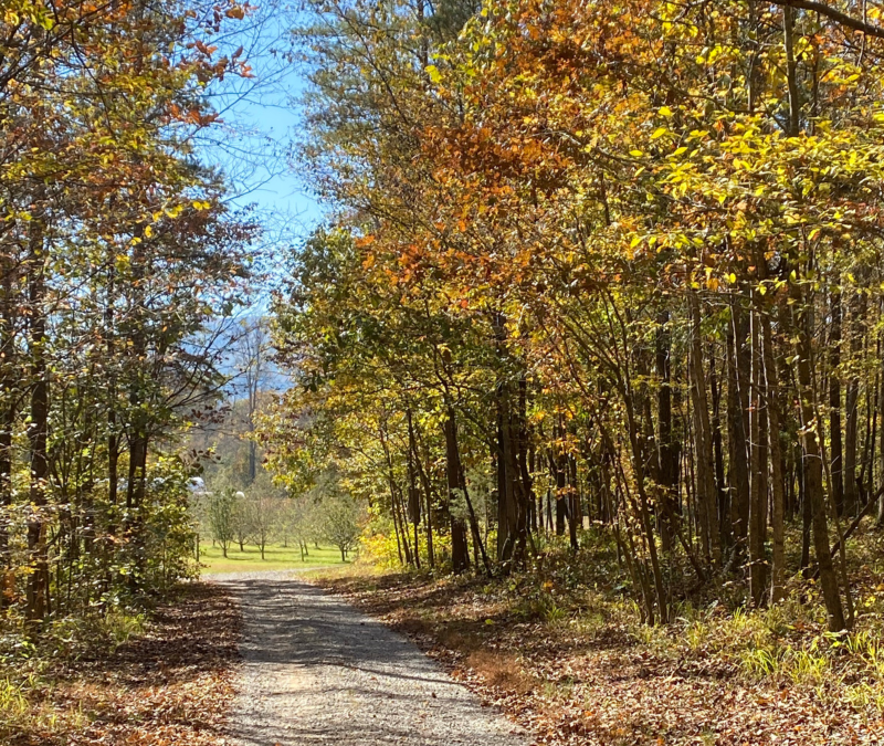
[[[739,577],[719,580],[693,598],[673,582],[673,596],[683,596],[672,605],[673,621],[642,624],[614,547],[592,534],[583,544],[576,555],[554,544],[524,572],[499,581],[497,592],[515,619],[565,624],[587,641],[625,631],[641,649],[681,668],[806,687],[820,700],[841,698],[857,712],[884,714],[884,568],[877,566],[876,533],[851,544],[856,617],[852,631],[841,634],[827,631],[815,584],[800,576],[791,579],[787,600],[761,609],[745,605],[747,588]],[[494,592],[493,586],[486,591]]]

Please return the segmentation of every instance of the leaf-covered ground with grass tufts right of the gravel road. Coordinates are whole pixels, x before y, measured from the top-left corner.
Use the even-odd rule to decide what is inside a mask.
[[[884,655],[872,628],[830,639],[815,605],[796,602],[748,613],[684,607],[652,629],[622,596],[569,577],[573,565],[494,581],[359,566],[313,579],[411,637],[539,744],[884,743]]]

